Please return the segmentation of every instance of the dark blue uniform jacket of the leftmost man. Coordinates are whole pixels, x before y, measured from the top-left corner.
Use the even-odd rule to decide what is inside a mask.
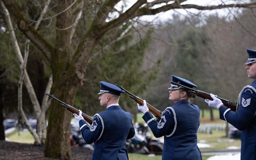
[[[134,137],[135,131],[131,114],[120,106],[95,114],[90,128],[84,120],[79,121],[79,126],[85,142],[94,142],[91,160],[128,160],[125,142]]]

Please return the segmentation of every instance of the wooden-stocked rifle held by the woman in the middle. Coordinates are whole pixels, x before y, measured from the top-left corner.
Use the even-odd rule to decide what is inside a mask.
[[[141,99],[138,96],[134,96],[132,93],[128,92],[128,90],[125,90],[123,86],[119,86],[118,84],[116,84],[117,87],[119,87],[121,90],[124,90],[126,93],[129,94],[129,96],[137,103],[139,103],[140,105],[143,105],[143,99]],[[157,122],[160,121],[161,116],[162,116],[162,112],[157,110],[156,108],[154,108],[152,105],[147,103],[147,107],[148,110],[156,117]]]

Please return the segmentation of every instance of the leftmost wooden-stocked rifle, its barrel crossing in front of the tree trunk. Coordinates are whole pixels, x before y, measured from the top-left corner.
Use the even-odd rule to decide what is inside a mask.
[[[66,103],[62,102],[62,101],[59,100],[59,99],[56,99],[56,98],[54,97],[54,94],[53,94],[53,95],[50,95],[50,94],[46,93],[46,95],[49,96],[49,97],[51,97],[52,99],[55,99],[56,101],[60,102],[61,105],[62,105],[63,107],[65,107],[68,111],[70,111],[71,113],[76,113],[77,115],[79,115],[79,110],[78,110],[78,109],[72,107],[71,105],[67,105]],[[85,120],[86,122],[88,122],[90,125],[93,123],[93,119],[92,119],[90,116],[88,116],[87,114],[82,113],[82,117],[83,117],[84,120]]]

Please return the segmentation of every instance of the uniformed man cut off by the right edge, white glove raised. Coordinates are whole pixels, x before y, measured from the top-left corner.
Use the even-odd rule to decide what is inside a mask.
[[[256,79],[256,50],[246,49],[249,58],[246,64],[248,78]],[[241,131],[241,160],[256,160],[256,81],[245,86],[238,97],[239,108],[232,111],[220,99],[210,94],[212,101],[205,102],[220,112],[220,119],[229,122]]]

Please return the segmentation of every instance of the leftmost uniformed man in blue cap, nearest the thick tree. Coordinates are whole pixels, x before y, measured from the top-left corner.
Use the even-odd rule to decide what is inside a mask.
[[[118,104],[124,91],[105,81],[100,81],[100,87],[100,105],[107,109],[94,115],[91,126],[84,121],[81,111],[74,116],[85,142],[94,143],[91,160],[128,160],[125,142],[134,137],[135,131],[131,114]]]

